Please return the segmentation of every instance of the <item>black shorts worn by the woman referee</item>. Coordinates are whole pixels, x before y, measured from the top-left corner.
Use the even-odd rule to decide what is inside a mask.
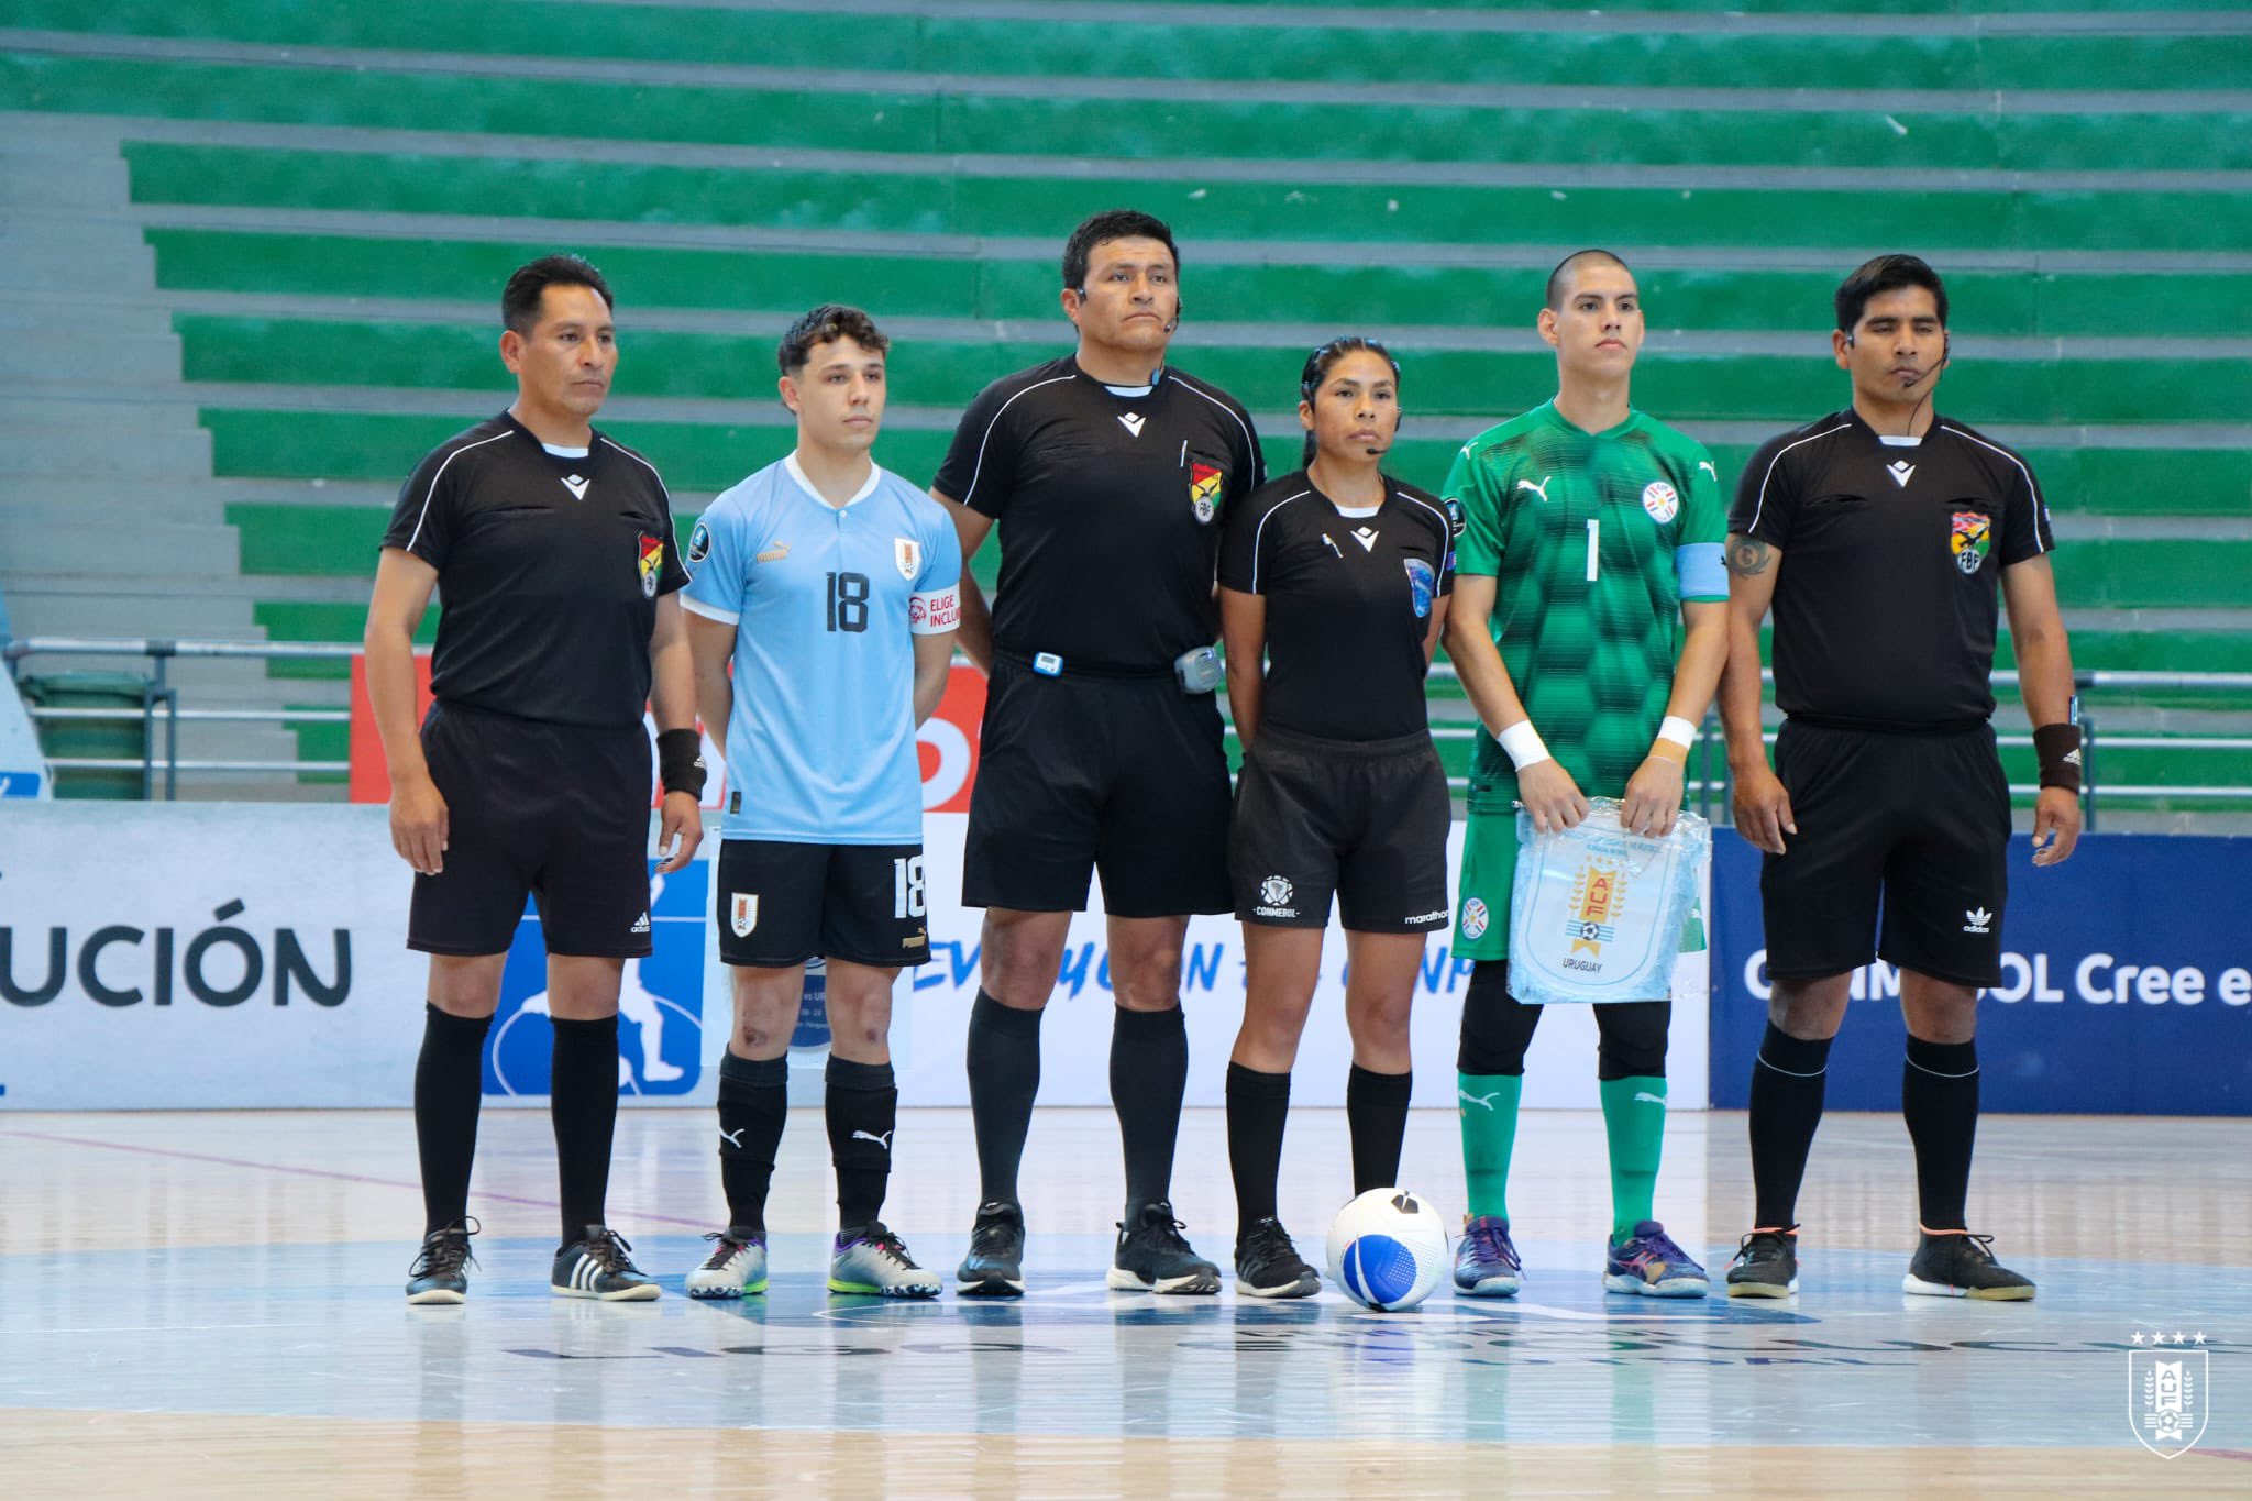
[[[1446,929],[1446,767],[1428,734],[1324,740],[1266,725],[1243,756],[1227,878],[1236,916],[1356,934]]]

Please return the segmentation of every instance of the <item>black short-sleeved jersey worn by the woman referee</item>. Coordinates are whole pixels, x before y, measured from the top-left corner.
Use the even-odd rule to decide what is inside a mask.
[[[1306,470],[1259,486],[1227,518],[1221,583],[1266,599],[1259,722],[1324,740],[1428,727],[1423,637],[1455,590],[1439,500],[1385,475],[1385,500],[1340,511]]]

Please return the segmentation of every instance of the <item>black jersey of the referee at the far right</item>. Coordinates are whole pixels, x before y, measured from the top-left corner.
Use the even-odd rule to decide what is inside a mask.
[[[2002,569],[2054,547],[2016,452],[1948,416],[1880,437],[1853,410],[1768,439],[1727,529],[1781,551],[1777,707],[1842,729],[1993,718]]]

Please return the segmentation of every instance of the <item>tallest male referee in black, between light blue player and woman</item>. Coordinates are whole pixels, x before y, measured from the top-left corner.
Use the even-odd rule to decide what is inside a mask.
[[[1180,254],[1112,209],[1063,248],[1079,349],[989,385],[930,493],[962,533],[962,650],[991,677],[962,900],[984,907],[968,1078],[982,1195],[964,1294],[1025,1292],[1018,1161],[1040,1085],[1040,1010],[1101,871],[1110,923],[1110,1098],[1126,1215],[1110,1285],[1218,1292],[1173,1220],[1189,1076],[1180,945],[1227,911],[1227,758],[1214,563],[1227,509],[1266,479],[1250,416],[1167,367]],[[968,574],[1000,527],[991,612]]]

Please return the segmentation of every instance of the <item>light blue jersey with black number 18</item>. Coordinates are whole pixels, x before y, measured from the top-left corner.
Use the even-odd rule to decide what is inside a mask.
[[[842,506],[797,455],[712,502],[680,603],[734,626],[723,839],[917,844],[914,637],[962,621],[946,511],[874,468]]]

